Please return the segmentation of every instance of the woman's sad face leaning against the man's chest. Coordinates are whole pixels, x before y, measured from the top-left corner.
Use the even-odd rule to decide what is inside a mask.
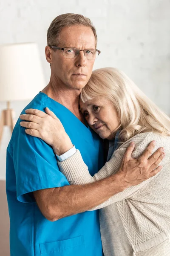
[[[102,139],[113,139],[113,131],[119,126],[117,112],[105,96],[98,96],[85,103],[80,99],[80,111],[88,122],[88,125]]]

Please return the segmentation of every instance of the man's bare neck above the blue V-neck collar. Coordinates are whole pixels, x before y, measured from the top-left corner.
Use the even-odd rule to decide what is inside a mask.
[[[59,102],[68,108],[81,122],[84,122],[82,114],[79,112],[79,95],[81,91],[61,88],[49,82],[49,84],[42,90],[42,93],[47,94],[48,97]]]

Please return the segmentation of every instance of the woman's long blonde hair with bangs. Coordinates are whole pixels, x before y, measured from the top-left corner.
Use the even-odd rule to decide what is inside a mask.
[[[120,120],[116,131],[121,130],[122,142],[150,131],[170,136],[170,118],[122,71],[111,67],[94,70],[80,97],[86,102],[97,96],[105,96],[113,102]]]

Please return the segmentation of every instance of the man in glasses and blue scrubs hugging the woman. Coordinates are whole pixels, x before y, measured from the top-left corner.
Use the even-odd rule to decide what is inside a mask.
[[[48,29],[47,43],[45,55],[51,65],[51,79],[22,113],[27,108],[44,111],[48,107],[54,111],[94,175],[103,165],[101,141],[84,124],[79,112],[79,94],[90,79],[97,54],[95,28],[82,15],[60,15]],[[67,51],[69,56],[72,52],[72,57],[68,58]],[[95,51],[92,57],[91,51]],[[7,149],[11,256],[102,256],[98,211],[86,210],[158,170],[146,173],[149,165],[141,167],[140,163],[133,167],[136,160],[127,162],[125,157],[121,168],[130,169],[128,180],[118,174],[96,183],[68,186],[59,172],[53,149],[44,141],[28,136],[19,123],[20,119]],[[150,145],[148,150],[152,148]],[[132,150],[133,147],[129,148],[126,156]],[[147,160],[148,153],[145,155]],[[159,155],[156,154],[156,160]]]

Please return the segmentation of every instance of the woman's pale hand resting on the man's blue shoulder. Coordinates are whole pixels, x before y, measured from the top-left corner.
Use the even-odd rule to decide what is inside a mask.
[[[25,127],[26,134],[38,137],[51,145],[55,154],[61,155],[73,147],[68,134],[57,116],[45,108],[45,113],[38,109],[27,109],[20,115],[20,125]]]

